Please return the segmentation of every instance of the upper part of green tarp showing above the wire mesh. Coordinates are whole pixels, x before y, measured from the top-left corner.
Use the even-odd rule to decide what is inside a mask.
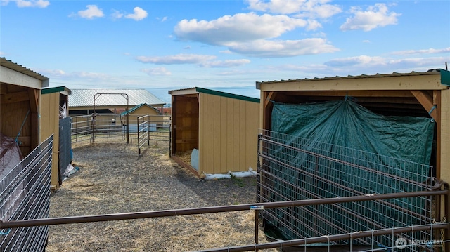
[[[274,102],[272,131],[388,157],[430,164],[435,122],[385,117],[351,100],[292,105]]]

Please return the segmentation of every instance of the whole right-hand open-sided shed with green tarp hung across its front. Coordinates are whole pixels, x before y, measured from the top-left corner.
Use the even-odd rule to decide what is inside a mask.
[[[260,201],[428,191],[437,180],[450,181],[450,72],[444,69],[256,86],[262,98]],[[282,239],[298,239],[430,224],[448,218],[440,203],[411,197],[262,215]],[[430,232],[401,235],[432,239]],[[349,242],[389,245],[392,237]]]

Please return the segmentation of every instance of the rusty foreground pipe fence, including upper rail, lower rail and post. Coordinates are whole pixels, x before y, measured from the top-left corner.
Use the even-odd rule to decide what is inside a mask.
[[[327,206],[329,204],[347,204],[354,202],[370,202],[386,199],[409,199],[411,197],[443,197],[448,202],[449,186],[446,183],[437,183],[432,190],[422,192],[398,192],[392,194],[371,194],[361,195],[354,197],[339,197],[328,199],[303,199],[297,201],[281,201],[281,202],[267,202],[256,204],[242,204],[232,206],[212,206],[205,208],[184,208],[165,211],[146,211],[137,213],[116,213],[107,215],[87,215],[87,216],[72,216],[62,218],[41,218],[35,220],[13,220],[0,223],[0,229],[15,229],[21,230],[24,227],[37,227],[47,225],[62,225],[62,224],[75,224],[75,223],[93,223],[101,221],[111,220],[134,220],[141,218],[162,218],[170,216],[181,215],[195,215],[205,213],[224,213],[231,211],[255,211],[255,243],[244,246],[230,246],[224,248],[212,248],[203,250],[204,252],[227,252],[227,251],[258,251],[260,249],[267,248],[280,248],[283,251],[284,248],[300,246],[307,251],[307,246],[316,246],[317,244],[326,244],[322,251],[333,251],[336,247],[335,241],[348,241],[349,247],[346,251],[361,251],[361,248],[352,246],[352,241],[356,239],[371,239],[375,241],[376,237],[390,236],[391,240],[389,244],[380,244],[372,242],[366,244],[364,251],[403,251],[407,248],[409,251],[449,251],[449,229],[450,223],[429,223],[425,225],[409,225],[406,227],[391,227],[386,229],[366,230],[359,232],[345,232],[341,234],[325,235],[321,237],[309,237],[302,239],[291,240],[278,240],[269,243],[259,244],[258,242],[258,230],[259,230],[259,213],[265,211],[271,211],[272,209],[284,209],[292,207],[304,207],[304,206]],[[448,207],[446,206],[446,213],[448,213]],[[250,230],[249,230],[250,231]],[[432,240],[409,240],[403,237],[407,237],[414,232],[423,232],[429,234]],[[433,237],[433,234],[442,232],[442,237]],[[401,241],[401,242],[399,242]],[[341,250],[342,251],[342,248]]]

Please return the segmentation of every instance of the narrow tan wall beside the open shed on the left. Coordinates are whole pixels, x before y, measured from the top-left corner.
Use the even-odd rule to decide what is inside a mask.
[[[59,157],[59,102],[60,93],[41,95],[41,140],[53,135],[53,157],[51,162],[51,185],[58,188],[58,157]]]

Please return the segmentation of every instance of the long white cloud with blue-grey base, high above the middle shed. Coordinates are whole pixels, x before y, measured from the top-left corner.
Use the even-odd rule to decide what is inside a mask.
[[[210,45],[226,46],[236,41],[252,41],[281,36],[309,22],[287,15],[257,15],[238,13],[217,20],[181,20],[174,28],[176,37],[186,41],[199,41]]]

